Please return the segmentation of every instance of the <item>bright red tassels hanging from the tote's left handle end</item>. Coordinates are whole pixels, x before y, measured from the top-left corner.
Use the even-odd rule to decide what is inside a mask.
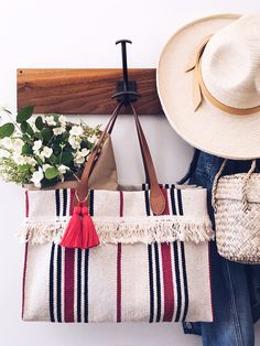
[[[65,248],[89,249],[99,245],[99,238],[84,203],[74,207],[73,216],[59,244]]]

